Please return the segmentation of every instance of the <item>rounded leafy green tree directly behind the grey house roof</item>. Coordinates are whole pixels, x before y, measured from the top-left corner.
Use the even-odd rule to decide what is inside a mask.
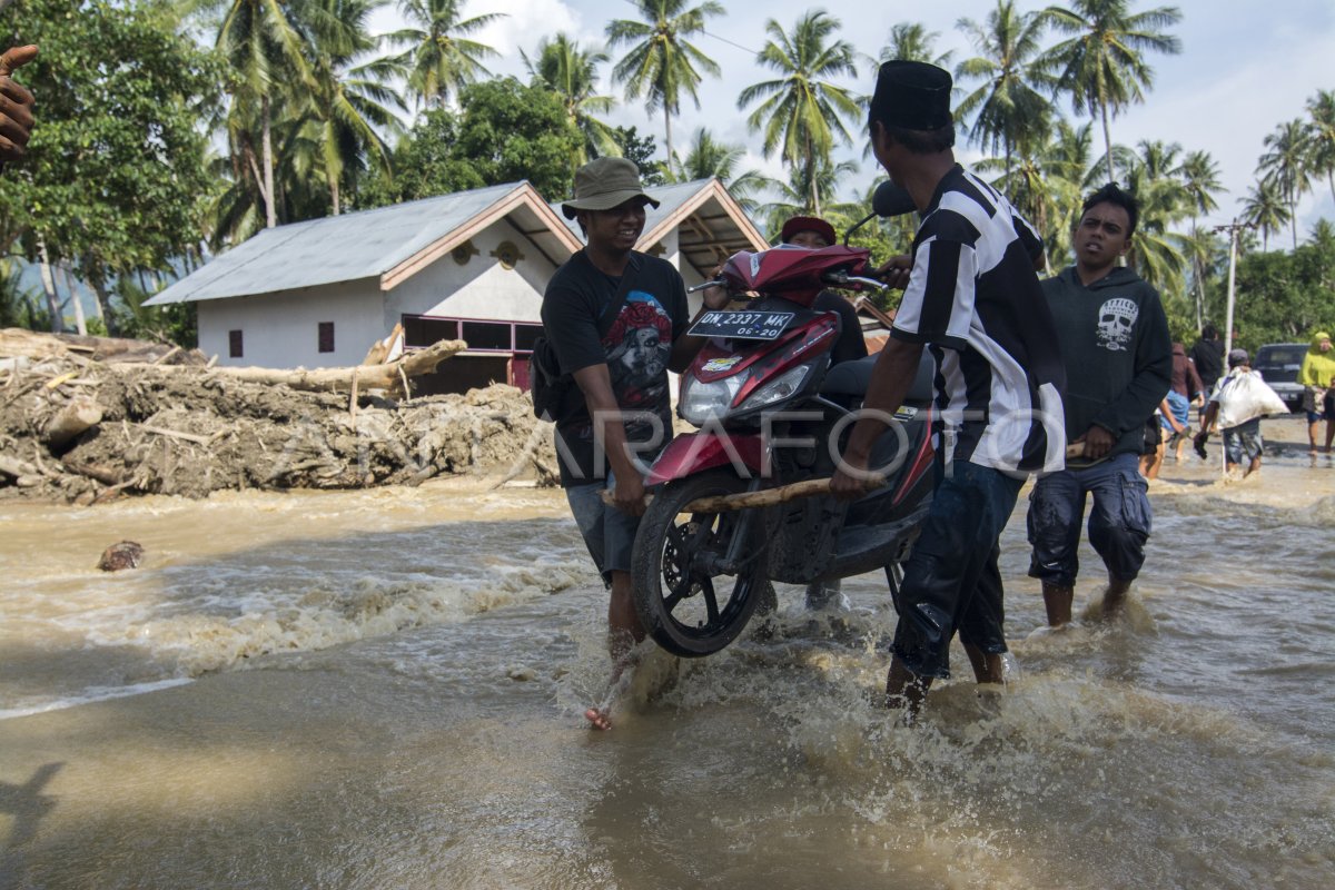
[[[527,179],[547,200],[571,188],[583,136],[550,89],[514,77],[463,88],[462,108],[427,111],[394,153],[395,176],[363,189],[360,207]]]

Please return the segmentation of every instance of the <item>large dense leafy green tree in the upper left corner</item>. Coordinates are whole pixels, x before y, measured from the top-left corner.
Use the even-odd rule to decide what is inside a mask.
[[[20,17],[4,40],[41,47],[23,69],[40,124],[5,172],[0,243],[35,260],[40,240],[95,290],[167,268],[198,242],[215,188],[203,123],[220,68],[174,31],[166,0],[28,0]]]

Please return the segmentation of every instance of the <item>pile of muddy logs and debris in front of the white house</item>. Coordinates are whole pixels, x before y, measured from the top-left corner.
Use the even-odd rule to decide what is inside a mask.
[[[0,498],[363,488],[474,474],[554,484],[551,424],[494,384],[411,398],[441,342],[355,368],[216,368],[195,350],[0,331]]]

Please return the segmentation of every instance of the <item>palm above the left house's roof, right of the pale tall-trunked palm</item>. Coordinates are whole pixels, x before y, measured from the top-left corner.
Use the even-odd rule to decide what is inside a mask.
[[[403,99],[384,85],[399,72],[398,65],[388,59],[351,65],[355,57],[378,47],[367,21],[383,3],[311,0],[310,61],[315,91],[303,135],[318,151],[334,216],[342,211],[340,184],[346,172],[364,169],[370,159],[388,172],[390,147],[379,131],[402,129],[395,113],[384,107],[392,103],[406,111]]]

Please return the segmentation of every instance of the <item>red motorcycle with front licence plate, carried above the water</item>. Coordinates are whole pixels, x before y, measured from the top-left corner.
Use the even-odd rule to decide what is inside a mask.
[[[882,185],[876,215],[904,212],[904,199]],[[736,496],[820,487],[834,472],[876,356],[830,367],[840,316],[810,307],[822,288],[884,287],[866,278],[869,251],[846,240],[742,251],[701,286],[720,284],[749,304],[706,312],[690,330],[712,338],[682,375],[678,399],[680,416],[700,431],[673,439],[650,467],[654,496],[631,558],[639,620],[676,655],[728,646],[773,596],[772,580],[809,584],[884,568],[898,592],[898,566],[933,488],[936,371],[926,354],[873,448],[880,487],[852,503],[824,494],[738,507]]]

